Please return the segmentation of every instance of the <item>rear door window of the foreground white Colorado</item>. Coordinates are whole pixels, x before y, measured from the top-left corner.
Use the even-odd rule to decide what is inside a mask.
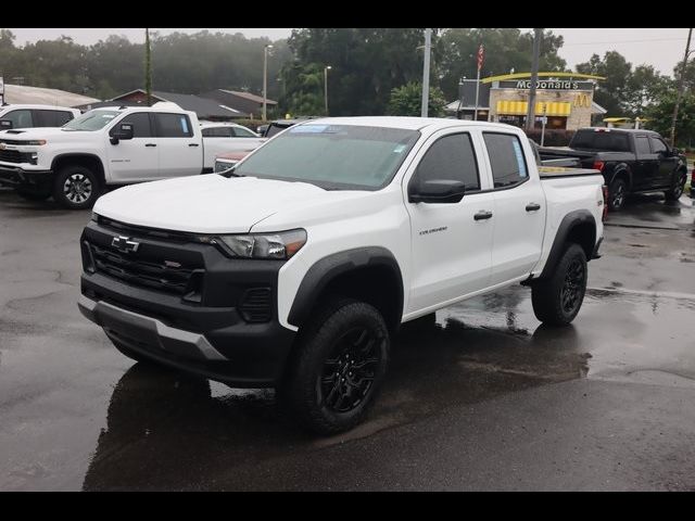
[[[514,187],[526,181],[529,173],[521,141],[510,134],[483,132],[495,188]]]

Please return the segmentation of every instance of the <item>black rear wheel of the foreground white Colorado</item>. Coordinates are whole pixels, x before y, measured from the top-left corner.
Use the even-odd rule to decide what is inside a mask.
[[[535,317],[552,326],[570,323],[582,307],[586,279],[584,250],[579,244],[570,243],[553,275],[536,282],[531,289]]]

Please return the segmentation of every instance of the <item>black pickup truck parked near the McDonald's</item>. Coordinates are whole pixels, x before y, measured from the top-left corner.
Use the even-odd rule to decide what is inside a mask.
[[[541,148],[539,153],[543,162],[572,157],[584,168],[601,170],[611,211],[620,209],[629,193],[664,192],[677,201],[687,178],[685,156],[652,130],[582,128],[568,148]]]

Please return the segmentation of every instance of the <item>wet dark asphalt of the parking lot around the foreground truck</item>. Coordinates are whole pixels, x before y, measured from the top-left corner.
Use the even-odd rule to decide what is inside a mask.
[[[404,330],[354,431],[119,355],[77,312],[86,212],[0,190],[0,491],[695,490],[695,208],[633,198],[569,328],[514,287]]]

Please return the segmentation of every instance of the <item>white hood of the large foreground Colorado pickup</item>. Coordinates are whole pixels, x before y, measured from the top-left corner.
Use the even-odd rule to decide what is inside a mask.
[[[101,196],[94,213],[149,228],[245,233],[274,214],[280,217],[283,212],[298,208],[336,206],[370,193],[374,192],[327,191],[305,182],[211,174],[119,188]]]

